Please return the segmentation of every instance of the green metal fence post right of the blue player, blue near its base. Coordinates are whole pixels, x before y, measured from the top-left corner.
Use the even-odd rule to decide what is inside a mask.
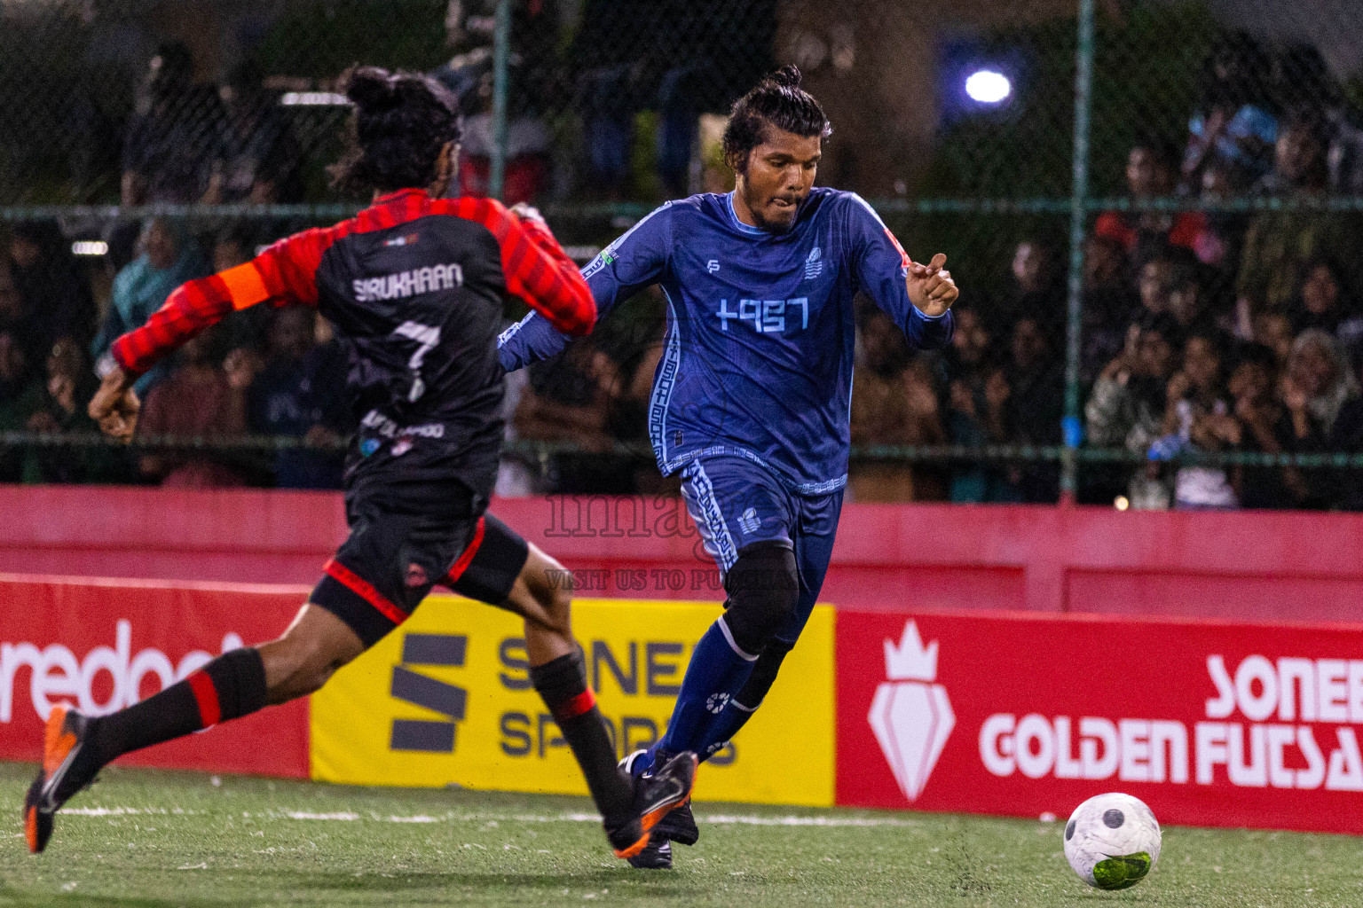
[[[1070,192],[1070,286],[1065,343],[1065,418],[1060,501],[1073,504],[1079,485],[1079,350],[1084,320],[1084,226],[1089,200],[1089,114],[1093,106],[1093,0],[1079,0],[1074,67],[1074,185]]]

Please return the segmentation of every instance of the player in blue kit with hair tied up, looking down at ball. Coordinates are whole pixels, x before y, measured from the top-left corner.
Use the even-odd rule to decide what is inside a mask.
[[[583,270],[602,314],[662,286],[668,329],[649,434],[662,474],[682,472],[728,594],[667,734],[623,761],[635,776],[722,747],[810,617],[846,485],[853,295],[870,295],[916,347],[951,339],[958,291],[946,256],[910,261],[860,196],[812,188],[829,132],[800,71],[773,74],[733,105],[724,133],[733,192],[665,203]],[[499,339],[502,363],[519,369],[567,342],[530,313]],[[676,810],[630,863],[669,867],[668,840],[698,834],[690,807]]]

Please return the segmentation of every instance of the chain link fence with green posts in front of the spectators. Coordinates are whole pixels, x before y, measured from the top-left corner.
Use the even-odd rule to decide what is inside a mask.
[[[728,106],[799,65],[819,182],[962,287],[936,354],[859,306],[856,500],[1363,505],[1349,0],[5,0],[0,479],[335,482],[348,415],[300,391],[338,368],[324,325],[224,325],[194,355],[239,403],[164,402],[131,455],[75,404],[110,312],[363,204],[324,176],[356,61],[444,82],[458,191],[538,204],[583,260],[728,191]],[[503,490],[668,489],[661,331],[645,291],[514,377]]]

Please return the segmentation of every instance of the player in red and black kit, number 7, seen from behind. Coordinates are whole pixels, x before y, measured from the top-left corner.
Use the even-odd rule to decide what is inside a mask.
[[[234,309],[315,306],[349,347],[348,389],[360,417],[346,464],[350,536],[284,636],[234,649],[161,693],[109,716],[57,707],[42,768],[23,805],[29,849],[53,814],[109,761],[139,747],[304,697],[402,623],[443,584],[525,617],[530,681],[586,776],[620,858],[686,803],[695,754],[654,780],[616,766],[615,746],[572,638],[559,564],[485,515],[502,448],[503,299],[519,297],[567,334],[587,334],[592,294],[532,210],[443,200],[455,172],[459,116],[425,76],[365,67],[345,78],[356,103],[350,151],[333,177],[373,204],[305,230],[255,260],[191,280],[144,327],[120,338],[90,415],[132,438],[132,383]],[[553,572],[553,573],[549,573]]]

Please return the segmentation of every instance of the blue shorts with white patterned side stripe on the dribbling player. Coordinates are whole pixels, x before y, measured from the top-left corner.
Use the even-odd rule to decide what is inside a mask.
[[[842,490],[804,496],[792,491],[766,467],[743,457],[717,456],[692,460],[682,470],[682,498],[721,576],[755,542],[780,542],[795,551],[800,600],[795,615],[776,634],[793,645],[829,572]]]

